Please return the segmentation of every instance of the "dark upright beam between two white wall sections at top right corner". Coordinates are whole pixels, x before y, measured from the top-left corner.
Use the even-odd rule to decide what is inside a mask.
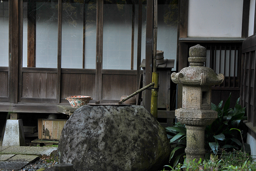
[[[250,0],[244,0],[242,19],[242,38],[248,37],[249,29]]]

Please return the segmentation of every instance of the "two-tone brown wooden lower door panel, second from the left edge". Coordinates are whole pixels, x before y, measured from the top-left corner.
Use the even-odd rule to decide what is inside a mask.
[[[22,98],[56,98],[56,73],[22,73]]]

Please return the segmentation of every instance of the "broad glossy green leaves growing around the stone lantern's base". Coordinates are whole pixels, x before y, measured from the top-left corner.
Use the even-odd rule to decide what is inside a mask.
[[[233,149],[243,150],[244,152],[251,151],[250,145],[243,142],[247,132],[245,130],[247,127],[242,122],[247,119],[245,108],[238,104],[240,98],[236,100],[235,107],[230,108],[230,97],[231,94],[223,107],[223,100],[220,101],[218,106],[212,103],[212,110],[218,112],[218,118],[211,125],[206,126],[205,129],[205,159],[209,160],[211,153],[220,156],[224,150],[227,152]],[[167,127],[165,130],[172,147],[169,162],[173,162],[173,167],[175,167],[186,158],[187,130],[185,125],[181,123],[175,123],[173,127]]]

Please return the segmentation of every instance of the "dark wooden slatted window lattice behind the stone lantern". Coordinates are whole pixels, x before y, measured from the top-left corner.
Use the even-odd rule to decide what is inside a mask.
[[[206,67],[212,68],[216,73],[223,73],[225,81],[222,90],[240,90],[241,80],[241,42],[193,42],[188,48],[200,44],[204,46],[207,56]]]

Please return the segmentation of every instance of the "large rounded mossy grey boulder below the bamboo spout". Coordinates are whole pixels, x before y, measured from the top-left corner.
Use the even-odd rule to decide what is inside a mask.
[[[77,171],[156,171],[168,161],[170,145],[141,106],[86,105],[68,119],[58,151],[60,163]]]

